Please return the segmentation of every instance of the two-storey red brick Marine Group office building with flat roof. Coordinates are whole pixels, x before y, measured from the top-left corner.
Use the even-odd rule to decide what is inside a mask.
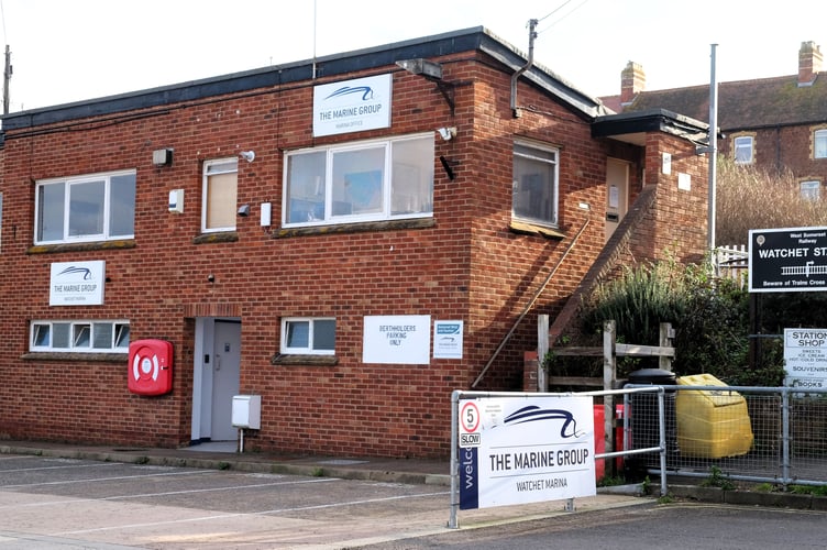
[[[596,262],[702,258],[705,135],[481,28],[5,116],[0,437],[235,439],[255,395],[249,450],[446,457]]]

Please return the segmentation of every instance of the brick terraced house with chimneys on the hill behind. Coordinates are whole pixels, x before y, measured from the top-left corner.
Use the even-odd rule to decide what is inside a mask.
[[[791,55],[791,61],[793,59]],[[791,63],[791,66],[794,66]],[[769,174],[790,170],[811,198],[827,185],[827,73],[822,48],[802,42],[796,74],[720,82],[718,141],[723,155]],[[620,95],[602,98],[616,112],[669,109],[699,120],[709,113],[709,84],[647,90],[646,73],[629,62],[621,73]]]

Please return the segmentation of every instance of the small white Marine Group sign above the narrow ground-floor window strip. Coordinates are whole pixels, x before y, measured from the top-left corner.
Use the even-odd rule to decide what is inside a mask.
[[[100,306],[103,304],[106,262],[57,262],[48,283],[49,306]]]

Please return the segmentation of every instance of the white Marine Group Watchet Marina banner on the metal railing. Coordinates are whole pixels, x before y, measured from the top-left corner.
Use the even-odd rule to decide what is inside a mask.
[[[460,509],[592,496],[591,396],[461,400]]]

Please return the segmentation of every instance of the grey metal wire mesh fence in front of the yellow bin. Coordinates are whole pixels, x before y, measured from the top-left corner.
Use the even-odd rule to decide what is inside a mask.
[[[660,446],[668,475],[775,484],[827,485],[827,392],[735,386],[664,386],[625,396],[618,449]],[[661,473],[659,452],[629,457],[628,466]]]

